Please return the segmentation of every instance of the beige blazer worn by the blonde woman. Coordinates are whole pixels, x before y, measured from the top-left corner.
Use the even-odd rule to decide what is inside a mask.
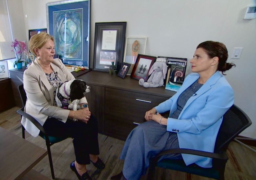
[[[53,59],[51,66],[62,82],[75,79],[60,59]],[[48,117],[61,119],[63,123],[67,121],[70,110],[53,106],[53,89],[37,60],[33,60],[24,72],[23,85],[27,93],[26,113],[34,117],[41,125]],[[82,98],[80,103],[87,103],[86,98]],[[21,123],[32,136],[39,135],[40,130],[25,117],[22,117]]]

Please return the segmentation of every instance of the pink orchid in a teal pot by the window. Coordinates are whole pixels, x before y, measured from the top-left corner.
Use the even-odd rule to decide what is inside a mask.
[[[26,43],[15,39],[11,43],[11,47],[14,48],[14,50],[11,50],[11,51],[14,51],[15,56],[17,58],[17,60],[13,62],[13,67],[15,68],[15,65],[17,65],[17,69],[21,69],[22,63],[25,62],[21,60],[21,58],[22,57],[24,58],[23,53],[27,51]],[[25,62],[25,65],[26,65],[26,62]]]

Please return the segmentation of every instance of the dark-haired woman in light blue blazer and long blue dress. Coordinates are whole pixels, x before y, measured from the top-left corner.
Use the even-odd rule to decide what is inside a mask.
[[[223,43],[205,41],[197,46],[190,60],[193,73],[174,96],[145,113],[147,122],[131,131],[120,155],[123,170],[112,180],[139,179],[149,166],[149,158],[167,149],[214,151],[223,115],[234,102],[233,90],[223,76],[235,66],[226,62],[227,57]],[[166,111],[170,111],[169,117],[162,117],[160,113]],[[202,156],[173,154],[163,158],[212,167],[212,159]]]

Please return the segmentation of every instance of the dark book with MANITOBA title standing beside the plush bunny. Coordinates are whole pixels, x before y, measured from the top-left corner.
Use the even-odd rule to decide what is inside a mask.
[[[178,91],[184,81],[187,59],[178,57],[167,57],[168,66],[166,74],[165,89]]]

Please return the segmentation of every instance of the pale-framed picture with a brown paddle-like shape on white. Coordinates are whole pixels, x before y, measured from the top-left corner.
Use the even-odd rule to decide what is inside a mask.
[[[132,66],[127,75],[131,75],[138,54],[145,54],[147,37],[126,37],[123,62]]]

